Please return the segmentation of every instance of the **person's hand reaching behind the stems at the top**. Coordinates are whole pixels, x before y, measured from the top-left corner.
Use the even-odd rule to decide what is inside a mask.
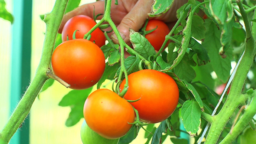
[[[151,5],[153,0],[118,0],[118,5],[115,5],[115,0],[112,0],[111,6],[111,18],[118,28],[121,37],[124,39],[125,43],[129,42],[129,29],[134,29],[138,31],[143,26],[147,18],[162,20],[171,29],[175,22],[176,10],[181,7],[187,0],[174,0],[172,7],[164,14],[158,17],[149,17],[148,13],[151,12]],[[66,13],[63,17],[61,26],[59,28],[59,33],[62,32],[65,23],[76,15],[86,15],[93,18],[93,11],[95,10],[95,15],[104,13],[105,1],[99,0],[95,3],[84,4],[69,13]],[[99,16],[98,19],[101,19]],[[111,33],[111,38],[114,43],[118,43],[118,39],[115,33]]]

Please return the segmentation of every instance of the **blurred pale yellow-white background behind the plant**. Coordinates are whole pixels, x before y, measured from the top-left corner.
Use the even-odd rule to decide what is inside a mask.
[[[91,3],[95,0],[81,0],[81,4]],[[13,0],[5,0],[6,9],[13,13],[15,4]],[[32,5],[32,38],[31,38],[31,76],[32,80],[37,65],[39,64],[44,32],[46,29],[45,23],[40,19],[39,15],[49,13],[55,0],[33,0]],[[14,23],[16,22],[14,17]],[[0,18],[0,130],[7,123],[11,112],[10,108],[10,93],[11,89],[11,60],[12,60],[12,29],[11,23]],[[18,69],[18,68],[17,68]],[[15,69],[14,69],[15,70]],[[29,82],[29,79],[27,80]],[[40,100],[36,98],[30,111],[30,123],[23,123],[23,128],[29,128],[30,144],[82,144],[80,139],[80,127],[82,119],[73,127],[66,127],[65,122],[68,118],[70,108],[58,106],[62,97],[68,93],[67,89],[54,82],[53,86],[46,91],[40,93]],[[18,104],[18,101],[16,101]],[[20,131],[20,130],[19,130]],[[22,131],[20,131],[22,133]],[[147,139],[144,139],[144,131],[140,131],[139,136],[131,144],[144,144]],[[11,143],[10,143],[11,144]],[[13,143],[12,143],[13,144]],[[171,144],[170,138],[164,141],[164,144]]]

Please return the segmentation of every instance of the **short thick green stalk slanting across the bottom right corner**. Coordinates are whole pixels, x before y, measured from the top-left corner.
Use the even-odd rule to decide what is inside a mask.
[[[220,142],[220,144],[231,144],[232,141],[243,131],[243,129],[248,125],[248,123],[253,119],[253,116],[256,114],[256,97],[255,92],[253,93],[254,98],[250,103],[248,108],[246,108],[242,118],[234,126],[232,134],[229,133],[226,137]]]

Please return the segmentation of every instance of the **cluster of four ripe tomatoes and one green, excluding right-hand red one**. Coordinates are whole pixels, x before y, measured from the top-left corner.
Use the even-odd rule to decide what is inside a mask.
[[[103,32],[97,28],[90,40],[82,39],[95,24],[88,16],[73,17],[63,28],[63,43],[53,52],[54,74],[69,83],[72,89],[92,87],[105,70],[105,56],[100,49],[105,44]],[[77,29],[76,39],[72,39]],[[120,92],[125,82],[125,79],[121,82]],[[173,113],[178,99],[179,90],[171,76],[152,69],[134,72],[128,75],[128,91],[124,98],[108,89],[98,89],[88,96],[83,109],[82,141],[84,144],[117,144],[135,121],[134,108],[141,121],[158,123]]]

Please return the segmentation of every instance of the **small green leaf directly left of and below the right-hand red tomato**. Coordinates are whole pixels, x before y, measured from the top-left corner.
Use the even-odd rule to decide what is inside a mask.
[[[130,40],[134,50],[145,59],[156,54],[154,47],[148,42],[148,39],[132,29],[130,29]]]

